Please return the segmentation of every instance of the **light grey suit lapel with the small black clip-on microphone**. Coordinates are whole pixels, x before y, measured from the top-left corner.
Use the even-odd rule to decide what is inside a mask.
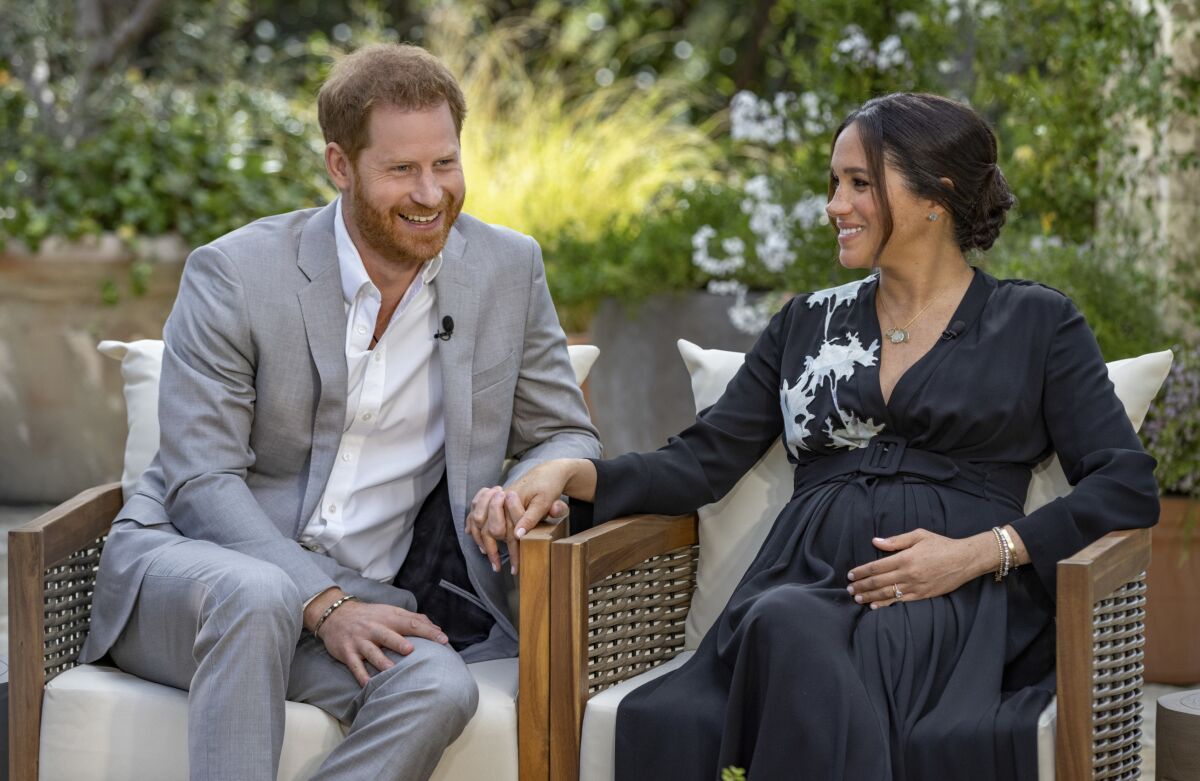
[[[442,393],[446,426],[446,479],[450,506],[457,525],[467,497],[467,467],[470,453],[470,370],[475,358],[475,328],[479,294],[463,260],[467,240],[454,228],[442,251],[442,270],[433,280],[438,295],[438,323],[454,319],[454,337],[438,342],[442,365]]]

